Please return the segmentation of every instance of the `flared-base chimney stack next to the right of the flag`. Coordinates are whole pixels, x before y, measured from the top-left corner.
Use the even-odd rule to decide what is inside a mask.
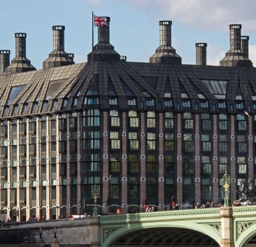
[[[160,20],[160,46],[149,59],[150,63],[181,64],[181,57],[172,47],[172,21]]]

